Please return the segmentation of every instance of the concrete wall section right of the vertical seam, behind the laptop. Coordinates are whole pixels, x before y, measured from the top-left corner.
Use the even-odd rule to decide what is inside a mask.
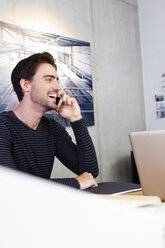
[[[102,178],[128,180],[128,134],[145,129],[137,1],[92,3]]]

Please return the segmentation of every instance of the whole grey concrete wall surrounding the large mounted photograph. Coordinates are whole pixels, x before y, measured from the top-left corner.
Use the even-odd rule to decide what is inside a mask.
[[[130,180],[128,134],[145,129],[137,0],[1,0],[0,20],[91,42],[98,181]]]

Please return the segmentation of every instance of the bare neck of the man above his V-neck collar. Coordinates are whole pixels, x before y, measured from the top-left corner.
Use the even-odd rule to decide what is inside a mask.
[[[21,101],[18,107],[13,110],[13,112],[18,119],[34,130],[37,129],[40,120],[45,113],[43,109],[41,110],[35,108],[34,106],[30,106],[29,104],[26,104],[25,101]]]

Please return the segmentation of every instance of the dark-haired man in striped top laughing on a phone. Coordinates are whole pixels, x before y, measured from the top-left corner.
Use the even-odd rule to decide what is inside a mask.
[[[56,182],[80,189],[97,186],[97,158],[75,98],[61,91],[57,67],[49,53],[21,60],[11,75],[20,101],[13,111],[0,114],[0,165],[50,178],[54,157],[76,173]],[[57,108],[56,99],[63,102]],[[64,127],[44,113],[56,110],[73,129],[76,145]]]

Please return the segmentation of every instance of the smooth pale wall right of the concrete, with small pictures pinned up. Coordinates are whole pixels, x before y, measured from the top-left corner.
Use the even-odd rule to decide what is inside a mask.
[[[156,118],[154,95],[162,93],[161,76],[165,72],[165,1],[139,0],[139,20],[148,130],[165,129],[165,118]]]

